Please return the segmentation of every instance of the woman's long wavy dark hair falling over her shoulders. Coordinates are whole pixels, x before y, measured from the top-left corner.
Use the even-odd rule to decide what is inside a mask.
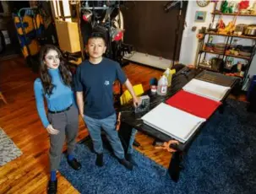
[[[43,89],[46,94],[51,95],[52,94],[52,89],[54,88],[54,85],[52,84],[52,76],[48,73],[48,67],[45,64],[45,57],[46,54],[49,51],[57,51],[57,54],[60,59],[60,64],[59,64],[59,72],[61,74],[61,77],[63,78],[63,82],[65,85],[71,87],[72,84],[72,75],[70,71],[68,70],[68,67],[65,66],[65,62],[63,59],[62,53],[58,50],[56,46],[52,45],[46,45],[41,48],[40,52],[40,77],[41,77],[41,82]]]

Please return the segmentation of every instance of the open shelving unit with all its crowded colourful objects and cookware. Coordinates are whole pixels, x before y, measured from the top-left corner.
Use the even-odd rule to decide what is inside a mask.
[[[224,19],[226,15],[229,17]],[[256,52],[256,24],[255,19],[251,18],[248,24],[239,23],[241,17],[245,16],[256,16],[255,2],[215,2],[209,28],[200,30],[197,35],[200,43],[197,67],[235,76],[241,78],[242,85],[246,83],[248,69]],[[225,40],[220,40],[218,36]],[[249,41],[252,44],[248,45]],[[206,58],[207,53],[215,57]]]

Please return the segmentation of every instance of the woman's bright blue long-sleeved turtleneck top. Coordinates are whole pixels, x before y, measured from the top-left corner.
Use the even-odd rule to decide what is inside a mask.
[[[60,111],[72,104],[75,105],[74,92],[63,83],[59,69],[49,69],[48,72],[52,76],[52,84],[54,85],[51,95],[45,94],[40,78],[36,78],[34,82],[36,108],[44,127],[50,124],[46,116],[44,97],[48,110]]]

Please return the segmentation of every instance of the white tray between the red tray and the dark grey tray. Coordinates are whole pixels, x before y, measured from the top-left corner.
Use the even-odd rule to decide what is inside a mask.
[[[221,101],[230,87],[204,82],[193,78],[182,89],[215,101]]]

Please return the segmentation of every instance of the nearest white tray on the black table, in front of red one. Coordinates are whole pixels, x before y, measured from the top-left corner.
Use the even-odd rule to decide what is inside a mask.
[[[142,117],[145,124],[185,143],[205,121],[171,105],[161,103]]]

